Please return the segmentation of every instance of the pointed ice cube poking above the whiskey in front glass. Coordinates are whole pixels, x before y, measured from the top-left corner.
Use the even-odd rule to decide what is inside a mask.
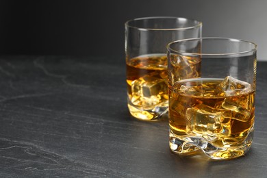
[[[231,76],[227,76],[222,82],[220,82],[220,84],[218,84],[216,89],[219,91],[218,95],[230,97],[251,92],[251,84],[235,79]]]

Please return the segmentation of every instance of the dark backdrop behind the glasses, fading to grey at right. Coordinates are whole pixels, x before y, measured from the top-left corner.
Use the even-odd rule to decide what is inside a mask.
[[[0,1],[0,53],[124,55],[124,23],[143,16],[203,21],[203,36],[257,42],[267,59],[267,1]]]

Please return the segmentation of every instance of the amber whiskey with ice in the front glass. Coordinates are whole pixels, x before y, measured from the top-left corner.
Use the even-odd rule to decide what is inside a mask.
[[[250,84],[230,76],[177,81],[169,105],[173,151],[203,149],[219,159],[237,157],[250,147],[255,118],[255,91]]]

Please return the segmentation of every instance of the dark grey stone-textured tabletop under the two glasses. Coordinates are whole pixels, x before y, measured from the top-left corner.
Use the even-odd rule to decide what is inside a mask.
[[[252,148],[229,161],[179,157],[166,121],[132,118],[123,57],[2,56],[0,84],[0,177],[267,177],[267,62]]]

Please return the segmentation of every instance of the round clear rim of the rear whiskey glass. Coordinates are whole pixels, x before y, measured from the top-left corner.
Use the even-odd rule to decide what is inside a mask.
[[[166,19],[180,19],[180,20],[186,20],[186,21],[194,21],[196,22],[196,25],[192,25],[190,27],[180,27],[180,28],[144,28],[144,27],[136,27],[136,26],[132,26],[129,25],[130,22],[133,21],[143,21],[143,20],[149,20],[149,19],[161,19],[161,18],[166,18]],[[131,27],[134,29],[139,29],[139,30],[143,30],[143,31],[149,31],[149,30],[161,30],[161,31],[167,31],[167,30],[185,30],[185,29],[194,29],[196,27],[201,27],[202,26],[202,22],[201,21],[197,21],[195,19],[192,18],[184,18],[184,17],[175,17],[175,16],[148,16],[148,17],[141,17],[141,18],[133,18],[129,21],[125,22],[125,27]]]

